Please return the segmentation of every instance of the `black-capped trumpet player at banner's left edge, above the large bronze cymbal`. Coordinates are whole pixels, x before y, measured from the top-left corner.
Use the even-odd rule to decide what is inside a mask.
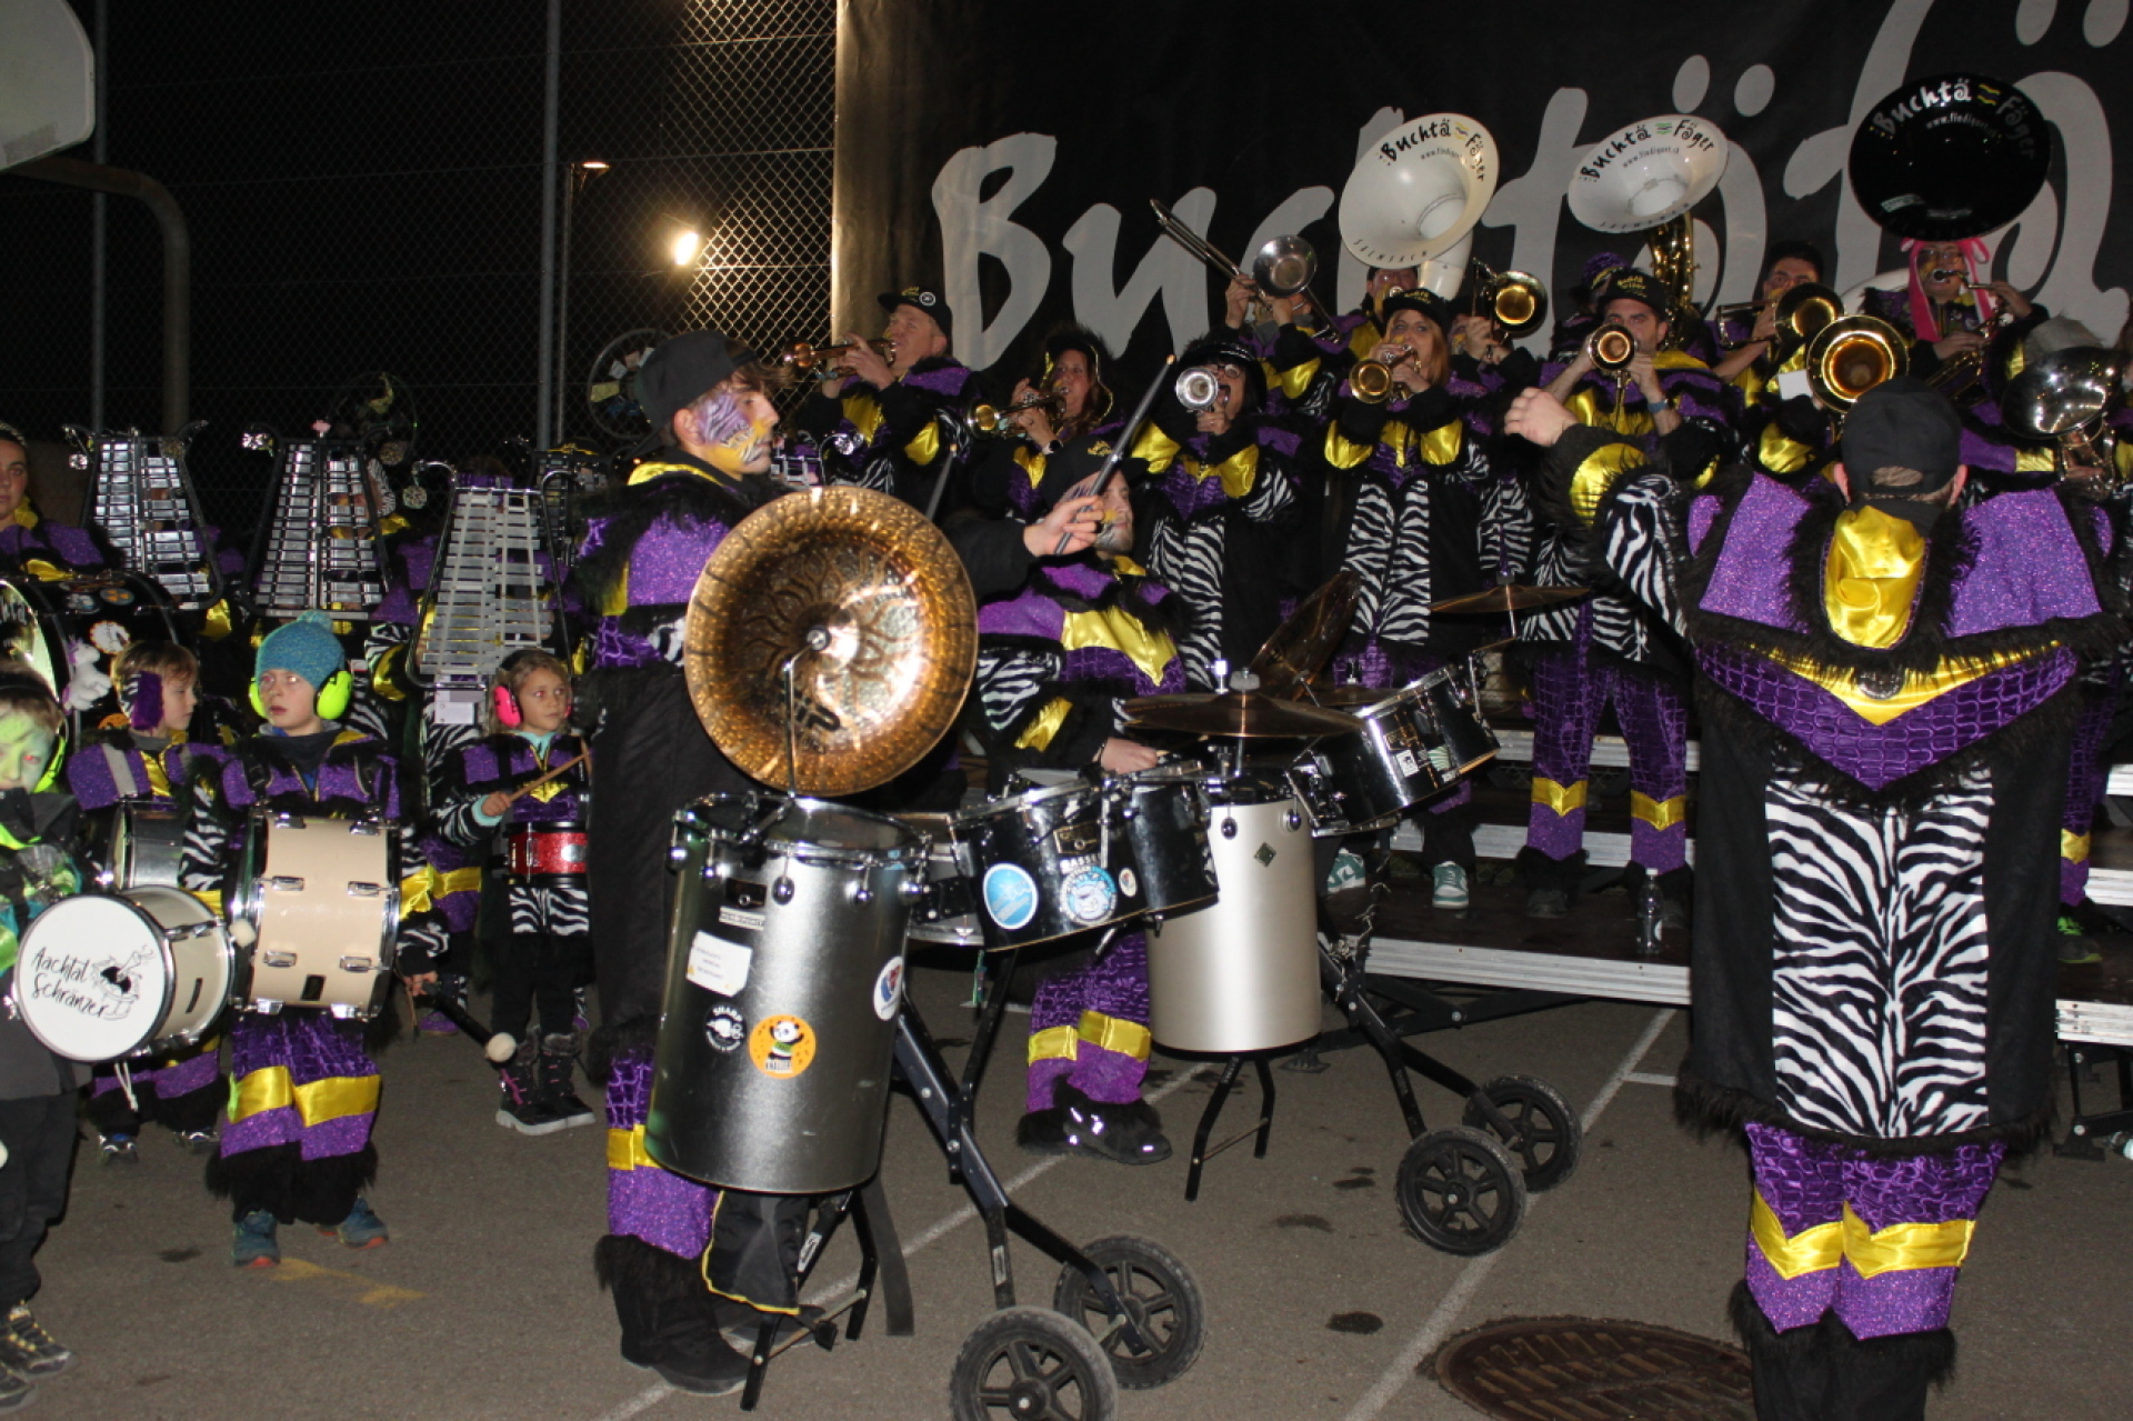
[[[800,410],[800,425],[823,435],[836,482],[926,508],[951,444],[941,416],[971,403],[977,376],[949,354],[956,314],[947,297],[932,286],[907,286],[879,301],[889,314],[887,356],[847,335],[851,350],[825,371]]]

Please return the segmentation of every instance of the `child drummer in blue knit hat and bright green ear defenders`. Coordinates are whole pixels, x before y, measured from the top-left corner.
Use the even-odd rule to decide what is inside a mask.
[[[258,649],[254,708],[260,734],[230,747],[215,775],[192,781],[183,888],[220,905],[239,875],[245,817],[254,811],[395,821],[401,864],[420,875],[414,834],[401,819],[399,766],[384,745],[343,730],[350,676],[341,642],[320,612],[275,627]],[[420,875],[427,879],[427,875]],[[403,883],[403,903],[420,903],[422,883]],[[232,924],[250,947],[252,924]],[[403,913],[397,971],[410,988],[435,977],[442,943],[433,909]],[[239,1011],[230,1024],[235,1090],[228,1124],[207,1161],[207,1186],[230,1201],[237,1233],[230,1261],[271,1267],[282,1261],[277,1223],[311,1223],[348,1248],[386,1242],[386,1225],[363,1197],[378,1173],[371,1122],[378,1114],[378,1065],[363,1024],[322,1009]]]

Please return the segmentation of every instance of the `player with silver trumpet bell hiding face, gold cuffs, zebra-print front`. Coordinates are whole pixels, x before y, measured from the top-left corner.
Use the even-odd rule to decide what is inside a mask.
[[[1135,557],[1192,606],[1192,632],[1180,642],[1197,691],[1224,689],[1216,664],[1244,670],[1282,621],[1278,576],[1282,536],[1297,523],[1297,435],[1263,414],[1258,354],[1235,333],[1192,341],[1180,371],[1214,382],[1205,410],[1188,410],[1175,382],[1156,395],[1135,440]]]

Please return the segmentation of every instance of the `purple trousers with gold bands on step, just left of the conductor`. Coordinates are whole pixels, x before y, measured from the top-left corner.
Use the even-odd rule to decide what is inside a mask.
[[[1630,862],[1670,873],[1689,862],[1681,798],[1689,789],[1689,702],[1681,687],[1587,655],[1583,642],[1534,655],[1534,804],[1525,843],[1561,862],[1585,847],[1585,781],[1600,713],[1615,702],[1630,745]],[[1574,792],[1561,813],[1542,798],[1553,781]],[[1657,817],[1657,824],[1653,821]]]

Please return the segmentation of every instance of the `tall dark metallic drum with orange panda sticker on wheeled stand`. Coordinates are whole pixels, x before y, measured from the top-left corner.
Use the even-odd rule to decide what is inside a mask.
[[[864,1184],[926,836],[840,804],[721,794],[674,817],[674,862],[644,1150],[721,1188]]]

